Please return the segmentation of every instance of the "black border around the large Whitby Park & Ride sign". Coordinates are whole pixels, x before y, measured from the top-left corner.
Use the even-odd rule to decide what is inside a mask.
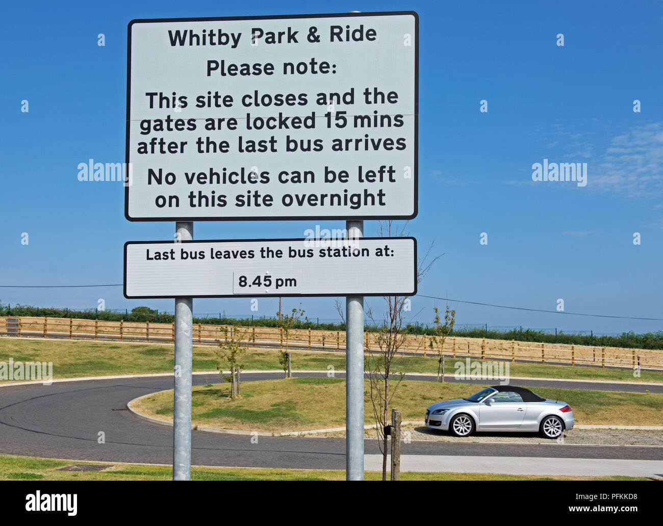
[[[385,17],[411,15],[414,17],[414,211],[412,215],[289,215],[278,217],[131,217],[129,215],[129,185],[125,185],[125,217],[133,222],[145,221],[363,221],[371,219],[414,219],[419,212],[419,15],[416,11],[372,11],[368,13],[324,13],[311,15],[265,15],[262,17],[202,17],[183,19],[134,19],[127,26],[127,134],[125,163],[129,166],[129,115],[131,98],[131,27],[134,24],[156,22],[222,22],[234,20],[316,19],[332,17]]]

